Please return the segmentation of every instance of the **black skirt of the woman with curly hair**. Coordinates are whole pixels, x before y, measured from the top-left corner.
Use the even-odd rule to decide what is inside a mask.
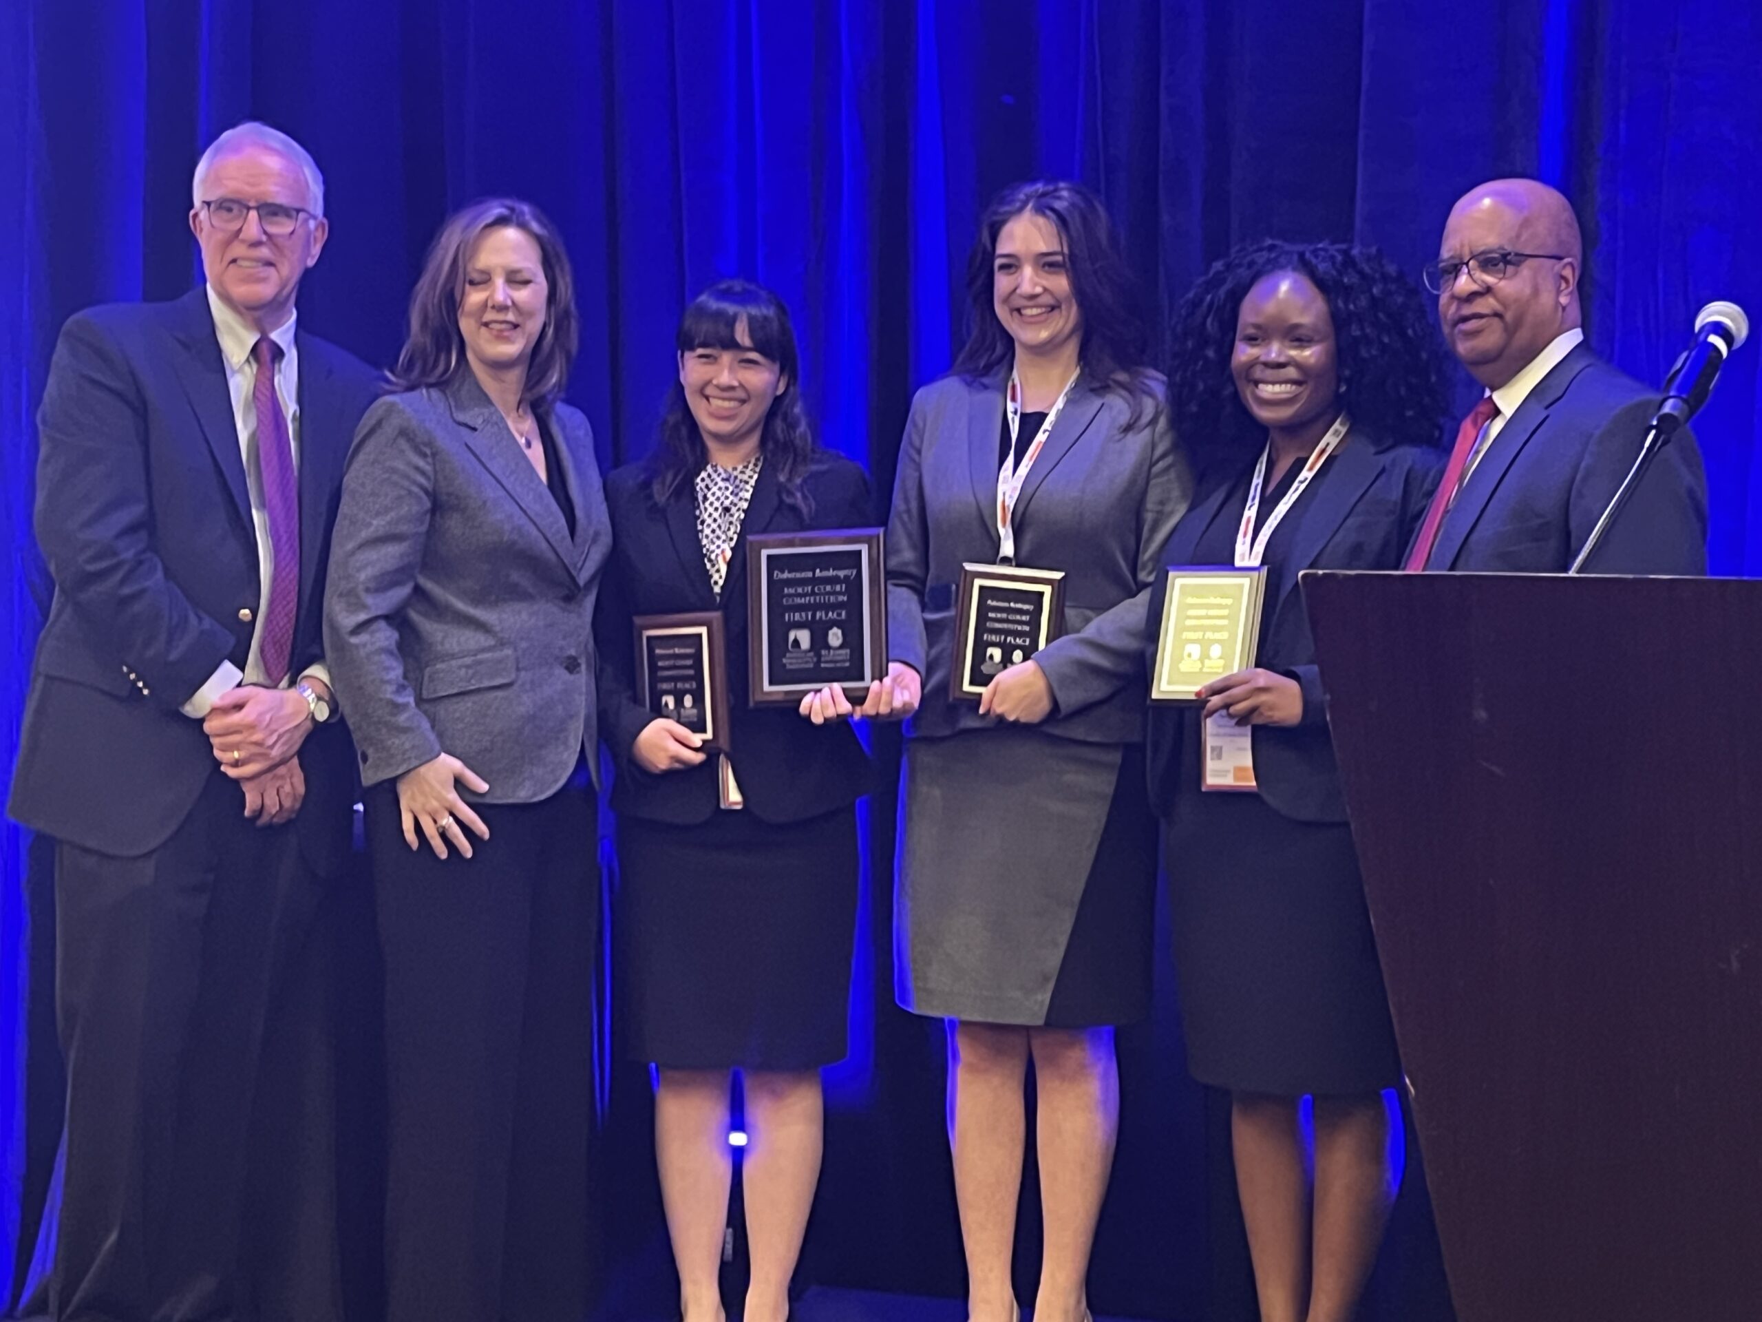
[[[1193,786],[1168,823],[1175,977],[1195,1079],[1244,1093],[1401,1081],[1351,828]]]

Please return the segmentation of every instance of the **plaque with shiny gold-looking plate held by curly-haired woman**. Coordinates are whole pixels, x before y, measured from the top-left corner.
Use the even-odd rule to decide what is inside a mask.
[[[1260,643],[1265,569],[1170,566],[1151,702],[1198,702],[1212,680],[1249,670]]]

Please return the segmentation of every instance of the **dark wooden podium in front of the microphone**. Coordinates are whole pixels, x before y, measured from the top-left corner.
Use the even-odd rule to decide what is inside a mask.
[[[1302,582],[1461,1322],[1762,1320],[1762,582]]]

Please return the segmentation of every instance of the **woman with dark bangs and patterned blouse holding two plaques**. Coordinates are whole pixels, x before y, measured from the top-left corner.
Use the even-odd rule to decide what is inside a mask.
[[[872,502],[863,471],[814,442],[774,293],[712,286],[685,308],[677,349],[655,451],[606,479],[615,1001],[629,1054],[657,1066],[655,1158],[685,1322],[722,1317],[733,1070],[749,1132],[744,1317],[782,1322],[819,1179],[819,1068],[846,1052],[869,760],[849,726],[745,705],[745,538],[863,527]],[[722,613],[733,694],[726,756],[631,696],[633,617],[708,610]]]

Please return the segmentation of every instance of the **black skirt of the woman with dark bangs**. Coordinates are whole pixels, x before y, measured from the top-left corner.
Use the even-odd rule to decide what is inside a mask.
[[[856,809],[774,825],[618,818],[615,1019],[624,1054],[678,1070],[844,1058]]]

